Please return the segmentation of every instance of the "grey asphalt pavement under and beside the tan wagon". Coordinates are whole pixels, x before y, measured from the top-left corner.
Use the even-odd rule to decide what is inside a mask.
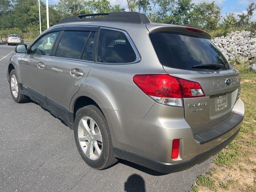
[[[34,102],[12,100],[6,70],[15,46],[0,44],[0,192],[183,192],[211,160],[160,174],[120,160],[106,170],[80,157],[73,131]]]

